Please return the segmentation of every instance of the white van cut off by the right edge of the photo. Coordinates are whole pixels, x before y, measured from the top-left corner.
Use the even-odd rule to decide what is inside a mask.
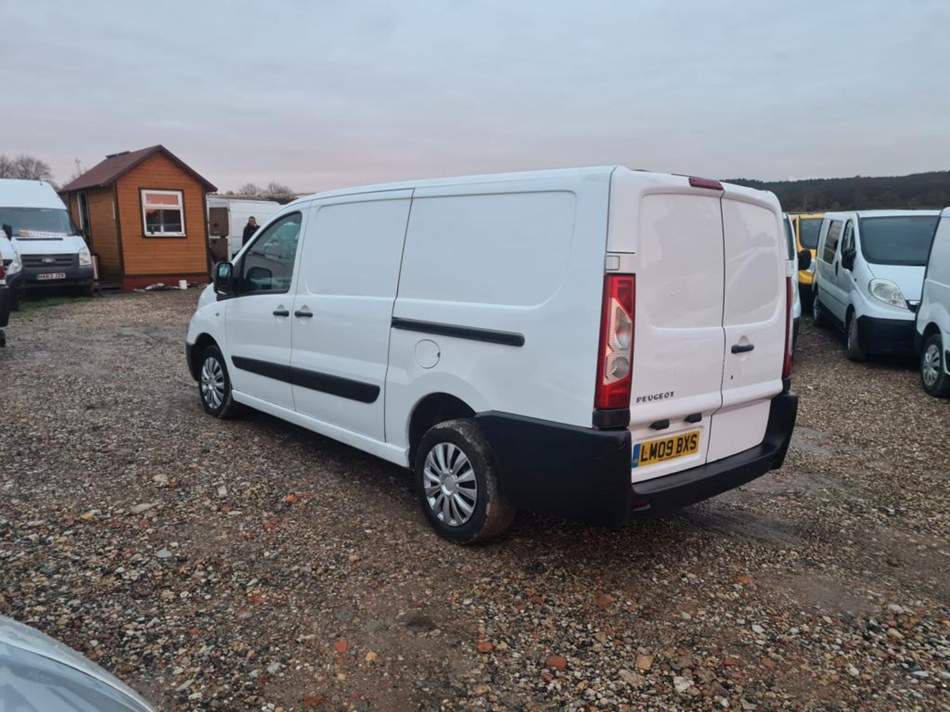
[[[950,396],[950,208],[940,214],[931,243],[914,337],[923,390]]]

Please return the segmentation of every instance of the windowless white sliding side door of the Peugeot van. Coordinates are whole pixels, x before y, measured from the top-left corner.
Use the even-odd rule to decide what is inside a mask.
[[[386,440],[383,388],[411,196],[317,202],[293,305],[296,411],[378,441]]]

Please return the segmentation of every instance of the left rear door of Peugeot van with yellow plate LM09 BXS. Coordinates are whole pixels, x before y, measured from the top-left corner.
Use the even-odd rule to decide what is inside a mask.
[[[635,253],[621,254],[621,263],[637,275],[633,481],[706,462],[712,413],[722,404],[721,195],[677,176],[614,175],[607,249]],[[647,458],[651,448],[656,457]]]

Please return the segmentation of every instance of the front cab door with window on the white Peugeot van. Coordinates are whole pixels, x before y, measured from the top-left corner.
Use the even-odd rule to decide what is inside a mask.
[[[236,292],[225,302],[225,355],[236,391],[283,408],[294,408],[288,379],[291,308],[299,237],[307,209],[280,215],[235,265]]]

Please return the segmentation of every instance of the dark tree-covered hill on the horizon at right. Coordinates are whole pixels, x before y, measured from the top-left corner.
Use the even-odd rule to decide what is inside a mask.
[[[771,191],[789,213],[950,206],[950,171],[881,178],[855,176],[777,181],[731,178],[729,182]]]

